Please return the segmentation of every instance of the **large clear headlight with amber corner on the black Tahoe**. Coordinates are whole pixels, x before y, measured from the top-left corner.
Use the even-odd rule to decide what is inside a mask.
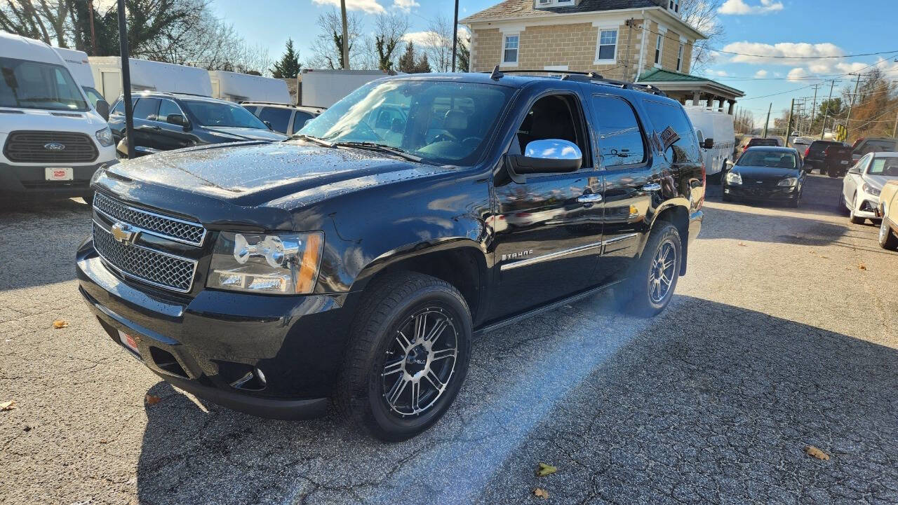
[[[306,294],[321,265],[324,234],[218,234],[206,286],[239,292]]]

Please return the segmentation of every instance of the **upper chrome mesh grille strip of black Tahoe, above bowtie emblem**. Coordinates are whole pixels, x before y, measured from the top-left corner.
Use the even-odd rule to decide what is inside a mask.
[[[172,239],[199,247],[203,245],[203,239],[206,238],[206,229],[196,222],[188,222],[124,205],[99,192],[93,196],[93,208],[114,221],[133,224],[142,231],[164,239]]]

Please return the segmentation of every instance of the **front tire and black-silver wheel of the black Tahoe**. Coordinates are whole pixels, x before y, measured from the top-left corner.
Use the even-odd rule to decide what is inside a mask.
[[[373,284],[365,289],[350,330],[335,403],[348,421],[375,438],[408,440],[439,421],[462,387],[471,359],[471,312],[458,290],[429,275],[402,272]],[[416,325],[421,318],[423,331]],[[443,330],[429,346],[416,339],[427,332],[428,322],[436,327],[440,321]],[[445,353],[452,344],[454,354]],[[442,357],[435,360],[437,355]],[[390,371],[384,377],[385,370]],[[428,379],[431,374],[442,389]],[[424,395],[417,406],[416,385]],[[423,407],[422,397],[430,402]]]

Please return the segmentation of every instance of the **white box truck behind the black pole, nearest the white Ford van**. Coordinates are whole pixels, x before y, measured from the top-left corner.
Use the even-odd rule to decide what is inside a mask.
[[[121,58],[90,57],[93,80],[106,101],[121,95]],[[212,96],[209,73],[202,68],[130,58],[132,91],[164,91]]]

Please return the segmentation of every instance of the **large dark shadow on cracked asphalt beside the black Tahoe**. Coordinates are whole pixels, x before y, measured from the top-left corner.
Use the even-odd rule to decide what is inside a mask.
[[[677,296],[658,318],[630,318],[600,295],[481,337],[450,412],[401,443],[332,412],[264,420],[160,382],[137,493],[154,504],[494,504],[541,486],[549,503],[892,501],[895,370],[892,348],[762,312]],[[533,476],[541,461],[559,474]]]

